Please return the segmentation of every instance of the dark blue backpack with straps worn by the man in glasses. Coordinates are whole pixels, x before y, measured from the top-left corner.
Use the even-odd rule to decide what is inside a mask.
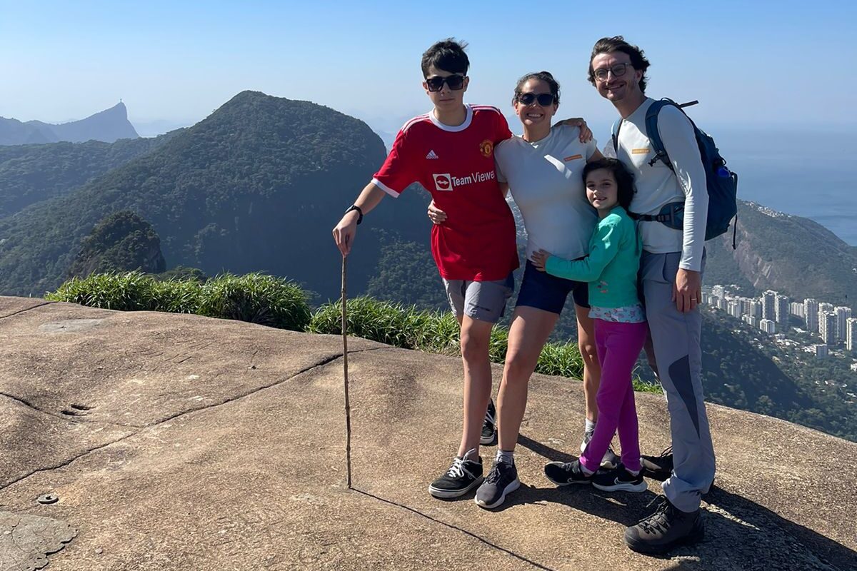
[[[675,172],[673,163],[669,160],[666,149],[663,148],[661,134],[657,130],[657,114],[662,110],[664,105],[673,105],[682,113],[685,113],[684,107],[698,104],[698,101],[691,101],[686,104],[677,104],[672,99],[660,99],[652,103],[649,110],[645,114],[645,129],[649,135],[649,140],[655,150],[655,158],[649,161],[649,166],[654,166],[657,161],[666,164],[670,170]],[[687,117],[687,114],[685,113]],[[705,186],[708,190],[708,223],[705,224],[705,240],[710,240],[716,236],[725,234],[729,229],[729,223],[735,220],[735,225],[732,229],[732,248],[735,248],[735,237],[738,223],[738,175],[726,168],[726,160],[720,156],[717,146],[711,136],[700,130],[696,123],[690,117],[687,120],[693,126],[693,133],[696,135],[697,145],[699,146],[699,157],[702,159],[702,164],[705,169]],[[619,129],[622,127],[620,120],[613,134],[613,148],[616,154],[619,154]],[[664,205],[660,213],[652,215],[631,214],[632,217],[638,220],[656,221],[666,224],[670,228],[682,229],[682,217],[684,216],[685,203],[671,202]]]

